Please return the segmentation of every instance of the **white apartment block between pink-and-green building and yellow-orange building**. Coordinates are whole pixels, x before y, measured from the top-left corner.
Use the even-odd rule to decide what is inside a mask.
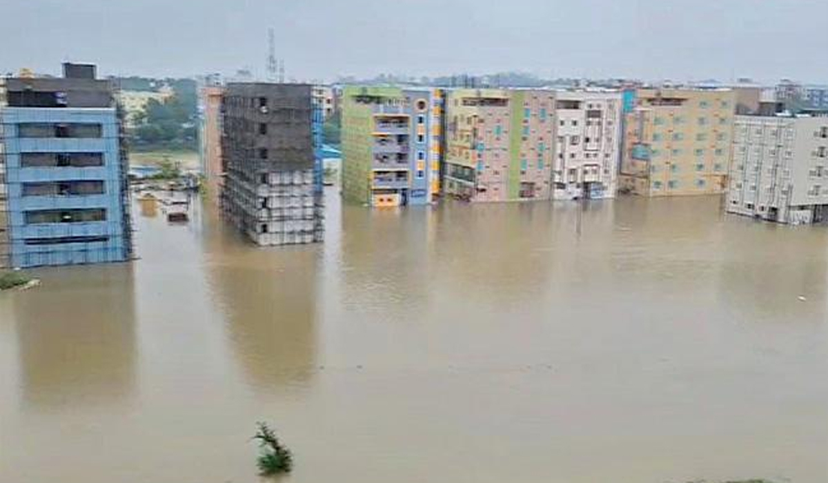
[[[558,91],[555,95],[552,198],[614,197],[621,153],[622,94]]]

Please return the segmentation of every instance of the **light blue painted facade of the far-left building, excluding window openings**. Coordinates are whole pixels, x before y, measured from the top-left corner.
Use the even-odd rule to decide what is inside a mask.
[[[122,205],[123,168],[119,157],[115,109],[5,108],[2,120],[7,167],[9,238],[12,266],[117,262],[128,259],[128,224]],[[94,123],[101,138],[20,138],[20,123]],[[23,152],[100,152],[103,167],[22,167]],[[22,183],[34,181],[103,181],[103,195],[22,196]],[[27,225],[28,210],[95,208],[106,220]],[[108,236],[107,241],[26,244],[31,238]]]

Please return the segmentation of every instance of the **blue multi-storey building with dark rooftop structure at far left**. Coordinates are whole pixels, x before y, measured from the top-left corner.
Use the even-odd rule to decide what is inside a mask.
[[[132,255],[121,114],[94,65],[64,78],[6,81],[0,111],[11,265],[128,260]]]

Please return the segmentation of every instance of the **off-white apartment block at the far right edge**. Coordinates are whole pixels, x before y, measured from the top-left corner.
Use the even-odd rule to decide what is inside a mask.
[[[828,221],[828,117],[737,116],[733,146],[729,212]]]

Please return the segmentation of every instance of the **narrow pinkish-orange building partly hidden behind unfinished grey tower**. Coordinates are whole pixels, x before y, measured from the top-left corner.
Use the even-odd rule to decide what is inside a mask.
[[[221,162],[221,103],[224,88],[209,85],[199,91],[199,152],[210,200],[218,203],[224,169]]]

